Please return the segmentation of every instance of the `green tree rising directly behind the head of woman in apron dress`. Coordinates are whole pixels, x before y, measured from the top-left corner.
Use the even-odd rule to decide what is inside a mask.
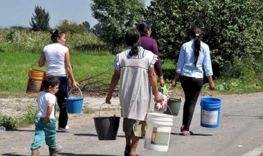
[[[92,0],[93,17],[101,24],[101,39],[118,52],[127,29],[143,19],[144,0]]]

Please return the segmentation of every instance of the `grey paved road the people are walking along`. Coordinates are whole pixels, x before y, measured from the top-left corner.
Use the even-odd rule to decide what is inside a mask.
[[[248,95],[219,95],[221,99],[221,117],[219,128],[200,126],[199,101],[194,111],[190,130],[194,135],[181,136],[180,126],[182,108],[174,117],[170,145],[167,152],[156,152],[144,148],[144,139],[140,139],[138,155],[244,155],[263,145],[263,92]],[[104,99],[85,99],[88,108],[99,108]],[[114,99],[118,106],[118,99]],[[107,107],[107,106],[106,106]],[[117,116],[119,110],[116,110]],[[112,115],[113,111],[102,112],[101,116]],[[117,139],[99,141],[91,114],[70,115],[69,133],[57,133],[57,142],[63,146],[60,155],[123,155],[125,137],[122,131],[122,119]],[[33,142],[34,126],[16,131],[0,133],[0,155],[30,155],[30,144]],[[262,148],[260,151],[263,152]],[[48,147],[42,146],[42,155],[48,155]]]

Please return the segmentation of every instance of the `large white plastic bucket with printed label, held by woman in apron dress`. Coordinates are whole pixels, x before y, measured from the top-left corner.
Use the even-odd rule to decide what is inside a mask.
[[[163,113],[147,113],[144,148],[163,152],[168,150],[173,117]]]

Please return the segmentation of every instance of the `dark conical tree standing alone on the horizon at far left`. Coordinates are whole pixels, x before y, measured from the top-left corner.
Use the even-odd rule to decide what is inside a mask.
[[[44,8],[35,6],[35,14],[31,17],[30,26],[32,26],[34,31],[48,31],[50,29],[49,19],[51,17],[49,17],[49,13]]]

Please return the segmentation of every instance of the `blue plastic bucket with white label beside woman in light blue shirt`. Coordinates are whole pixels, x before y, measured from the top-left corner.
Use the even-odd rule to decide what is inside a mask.
[[[206,128],[219,127],[221,99],[215,97],[202,97],[200,106],[201,126]]]

